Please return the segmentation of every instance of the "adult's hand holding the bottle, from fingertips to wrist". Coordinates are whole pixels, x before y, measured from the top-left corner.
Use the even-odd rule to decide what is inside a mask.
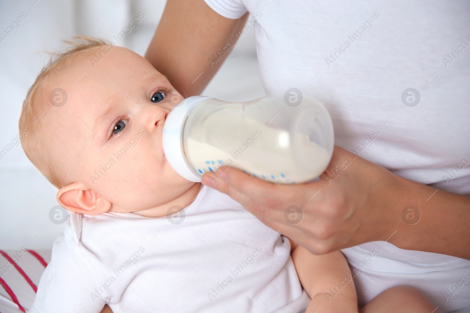
[[[350,164],[341,167],[346,160]],[[393,214],[383,207],[384,203],[390,206],[395,199],[372,177],[384,181],[382,176],[389,178],[391,173],[338,146],[321,180],[313,183],[273,184],[234,168],[220,174],[219,179],[212,173],[206,174],[203,183],[215,179],[212,181],[217,190],[315,254],[385,240],[395,230],[390,225]],[[295,207],[288,209],[290,206],[298,206],[301,211],[296,212]]]

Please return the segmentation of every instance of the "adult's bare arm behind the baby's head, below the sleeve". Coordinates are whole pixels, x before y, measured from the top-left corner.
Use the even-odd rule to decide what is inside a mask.
[[[145,58],[185,98],[198,95],[232,49],[220,51],[235,46],[247,17],[223,17],[204,0],[168,0]]]

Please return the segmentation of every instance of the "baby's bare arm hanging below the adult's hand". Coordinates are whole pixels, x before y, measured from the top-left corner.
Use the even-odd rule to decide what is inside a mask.
[[[351,271],[343,253],[313,255],[290,240],[298,278],[310,298],[305,313],[358,312]]]

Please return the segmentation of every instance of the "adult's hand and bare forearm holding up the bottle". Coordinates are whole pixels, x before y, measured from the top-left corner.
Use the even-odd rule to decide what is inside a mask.
[[[273,184],[235,168],[219,168],[202,179],[315,254],[384,240],[402,249],[470,259],[465,249],[470,246],[469,197],[433,194],[436,189],[394,175],[338,146],[320,181],[313,183]],[[403,219],[402,212],[410,205],[419,209],[406,211]],[[452,214],[446,214],[449,207]],[[409,214],[417,218],[418,211],[420,221],[412,225]],[[452,239],[453,234],[460,242]]]

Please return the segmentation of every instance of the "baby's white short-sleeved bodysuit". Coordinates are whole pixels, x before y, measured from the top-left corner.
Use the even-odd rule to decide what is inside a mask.
[[[203,187],[173,216],[71,214],[31,312],[304,312],[290,242]]]

